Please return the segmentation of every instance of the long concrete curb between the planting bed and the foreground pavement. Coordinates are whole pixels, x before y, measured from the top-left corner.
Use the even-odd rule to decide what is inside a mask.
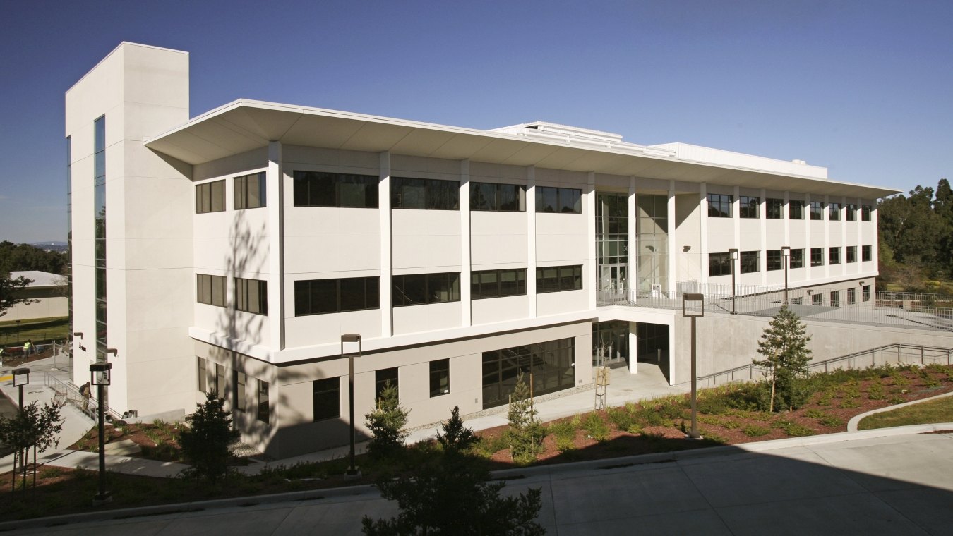
[[[953,394],[953,393],[950,393]],[[918,401],[919,402],[919,401]],[[586,462],[572,462],[568,464],[555,464],[552,466],[522,467],[513,469],[500,469],[491,471],[492,479],[522,479],[546,475],[569,474],[573,472],[588,471],[593,469],[630,469],[632,466],[652,466],[670,462],[679,462],[681,460],[694,460],[708,456],[731,456],[743,453],[765,452],[780,448],[790,447],[810,447],[813,445],[823,445],[829,443],[846,443],[849,441],[873,439],[879,437],[891,437],[900,435],[913,435],[926,432],[953,429],[953,423],[938,423],[933,425],[911,425],[908,427],[887,427],[876,428],[872,430],[863,430],[856,432],[839,432],[833,434],[792,437],[787,439],[776,439],[771,441],[761,441],[755,443],[742,443],[740,445],[730,445],[722,447],[704,447],[691,450],[679,450],[674,452],[657,452],[652,454],[639,454],[638,456],[625,456],[621,458],[607,458],[604,460],[591,460]],[[229,499],[214,499],[211,501],[195,501],[192,503],[175,503],[172,505],[139,506],[134,508],[122,508],[112,510],[102,510],[97,512],[88,512],[80,514],[65,514],[52,517],[41,517],[26,519],[21,521],[10,521],[0,523],[0,531],[21,530],[26,528],[43,528],[51,526],[64,526],[71,523],[84,523],[102,520],[125,520],[144,516],[155,516],[163,514],[176,514],[186,512],[196,512],[213,508],[228,508],[235,506],[256,506],[278,503],[292,503],[301,501],[319,501],[321,499],[339,498],[339,497],[357,497],[368,496],[368,498],[379,496],[374,485],[365,484],[360,486],[329,487],[327,489],[312,489],[307,491],[291,491],[287,493],[274,493],[271,495],[253,495],[248,497],[233,497]]]

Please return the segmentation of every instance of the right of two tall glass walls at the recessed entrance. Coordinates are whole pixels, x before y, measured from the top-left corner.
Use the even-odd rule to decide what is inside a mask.
[[[668,198],[639,194],[636,234],[639,253],[636,285],[639,296],[655,295],[668,288]]]

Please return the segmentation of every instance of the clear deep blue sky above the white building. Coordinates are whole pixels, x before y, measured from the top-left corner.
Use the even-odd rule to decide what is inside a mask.
[[[545,120],[913,189],[953,178],[953,2],[0,0],[0,240],[66,239],[64,92],[121,41],[237,98]]]

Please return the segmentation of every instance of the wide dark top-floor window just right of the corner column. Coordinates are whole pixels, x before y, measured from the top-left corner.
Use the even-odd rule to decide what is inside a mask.
[[[295,207],[377,208],[374,175],[294,171]]]

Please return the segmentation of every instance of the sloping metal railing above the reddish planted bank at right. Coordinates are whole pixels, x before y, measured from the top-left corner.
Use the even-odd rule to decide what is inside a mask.
[[[865,349],[811,363],[807,366],[807,369],[812,372],[820,372],[821,369],[824,372],[829,372],[837,368],[880,367],[894,363],[919,363],[922,366],[936,363],[953,365],[953,348],[923,347],[894,343],[892,345]],[[843,365],[846,365],[846,367],[843,367]],[[740,367],[729,368],[713,374],[700,376],[698,386],[717,387],[733,382],[760,380],[765,376],[766,372],[766,368],[758,367],[754,363],[751,363],[749,365],[742,365]],[[691,383],[691,380],[681,382],[680,384],[676,384],[676,386],[684,386],[689,383]]]

